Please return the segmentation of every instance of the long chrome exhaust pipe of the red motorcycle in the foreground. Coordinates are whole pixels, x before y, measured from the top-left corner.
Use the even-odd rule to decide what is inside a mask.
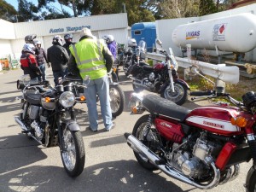
[[[184,177],[180,172],[175,171],[171,166],[166,164],[158,164],[158,162],[162,162],[162,160],[154,154],[147,146],[141,143],[136,137],[132,136],[130,133],[125,133],[125,138],[127,139],[128,145],[138,154],[143,156],[144,160],[149,160],[154,166],[157,166],[162,172],[165,172],[166,175],[170,177],[177,178],[178,180],[188,183],[190,185],[195,186],[199,189],[212,189],[213,187],[217,186],[220,179],[220,172],[216,168],[215,164],[211,162],[210,166],[212,166],[214,172],[214,178],[212,179],[211,183],[206,185],[202,185],[200,183],[195,183],[193,180],[189,179],[188,177]]]

